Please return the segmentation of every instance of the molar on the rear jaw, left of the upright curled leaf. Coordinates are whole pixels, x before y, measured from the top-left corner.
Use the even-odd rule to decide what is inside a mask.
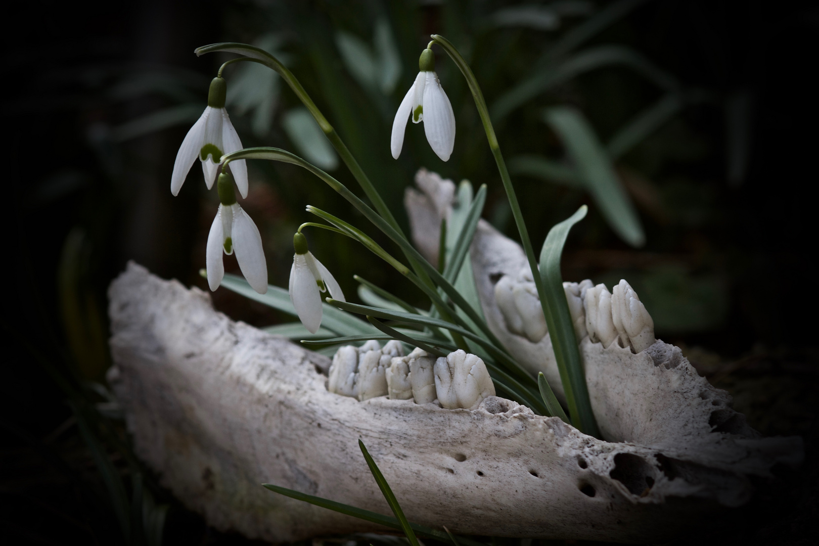
[[[495,284],[495,302],[509,332],[524,336],[532,343],[543,339],[548,329],[541,300],[537,297],[532,271],[526,267],[513,279],[504,275]]]

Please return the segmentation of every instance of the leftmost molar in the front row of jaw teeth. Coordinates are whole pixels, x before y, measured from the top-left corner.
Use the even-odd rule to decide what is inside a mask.
[[[381,347],[370,340],[356,348],[345,345],[336,351],[330,364],[327,388],[337,395],[359,400],[387,394],[387,368],[391,359],[404,354],[399,341]]]

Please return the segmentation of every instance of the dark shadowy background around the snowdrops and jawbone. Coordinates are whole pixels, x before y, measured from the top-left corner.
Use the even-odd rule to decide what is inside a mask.
[[[608,4],[591,5],[600,11]],[[252,43],[276,31],[288,65],[393,210],[400,209],[415,170],[426,166],[456,182],[486,183],[484,217],[516,238],[468,89],[448,61],[438,57],[458,120],[452,159],[442,163],[423,135],[409,128],[405,151],[393,161],[387,146],[391,119],[370,107],[374,103],[346,71],[332,39],[338,29],[369,39],[373,20],[391,21],[403,64],[395,90],[379,99],[389,115],[432,32],[470,52],[491,106],[534,70],[554,36],[581,20],[566,18],[551,34],[486,27],[486,14],[514,5],[29,2],[13,8],[3,64],[7,356],[0,381],[0,536],[25,544],[129,540],[106,500],[93,449],[79,431],[87,418],[126,489],[140,473],[156,502],[170,505],[165,544],[242,544],[237,535],[209,529],[129,459],[122,423],[95,417],[107,400],[104,390],[90,386],[104,385],[110,364],[106,287],[129,259],[163,278],[206,288],[197,272],[204,266],[215,198],[201,183],[198,165],[178,197],[168,191],[176,151],[192,121],[132,131],[131,137],[126,130],[152,112],[205,106],[207,83],[228,57],[197,58],[193,49],[219,41]],[[644,247],[620,241],[585,192],[513,178],[526,196],[523,212],[536,245],[555,222],[582,203],[590,205],[589,219],[569,239],[564,279],[592,278],[610,286],[627,278],[658,322],[658,336],[680,345],[700,373],[729,390],[752,426],[766,435],[805,438],[808,462],[801,473],[776,469],[776,480],[759,481],[749,507],[715,512],[710,523],[718,540],[731,544],[812,544],[819,521],[819,325],[810,288],[817,25],[814,2],[657,0],[643,2],[591,38],[591,45],[631,47],[701,97],[617,162],[645,227]],[[540,120],[544,106],[577,106],[606,141],[658,97],[656,88],[625,69],[591,71],[513,111],[497,125],[500,145],[507,158],[560,156],[559,139]],[[280,120],[294,106],[295,97],[282,90],[266,132],[252,129],[251,115],[231,114],[246,146],[293,149]],[[746,142],[739,152],[745,160],[731,155],[737,138]],[[343,167],[333,174],[355,186]],[[286,286],[289,241],[296,226],[309,220],[301,213],[307,203],[360,221],[294,168],[251,167],[251,196],[243,205],[260,226],[270,282],[278,286]],[[364,272],[408,300],[423,301],[346,242],[324,233],[311,234],[310,241],[348,297],[355,293],[351,275]],[[235,260],[225,264],[238,272]],[[258,326],[286,319],[223,292],[215,292],[215,305],[233,318]],[[681,543],[706,541],[704,536]]]

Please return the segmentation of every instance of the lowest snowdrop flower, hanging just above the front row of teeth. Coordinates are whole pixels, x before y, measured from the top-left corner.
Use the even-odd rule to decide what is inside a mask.
[[[307,250],[307,237],[296,233],[293,236],[293,246],[296,254],[293,255],[293,267],[290,269],[290,300],[304,327],[315,333],[321,326],[319,292],[329,290],[334,300],[346,300],[333,275]]]

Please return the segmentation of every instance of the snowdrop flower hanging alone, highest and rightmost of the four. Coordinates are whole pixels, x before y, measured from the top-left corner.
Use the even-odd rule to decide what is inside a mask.
[[[427,133],[432,151],[446,161],[450,159],[452,147],[455,146],[455,114],[452,113],[450,99],[446,97],[441,82],[438,81],[438,74],[435,73],[435,55],[432,49],[423,50],[418,64],[421,71],[398,106],[396,119],[392,122],[392,157],[398,159],[400,156],[407,117],[412,117],[415,124],[423,120],[423,131]]]

